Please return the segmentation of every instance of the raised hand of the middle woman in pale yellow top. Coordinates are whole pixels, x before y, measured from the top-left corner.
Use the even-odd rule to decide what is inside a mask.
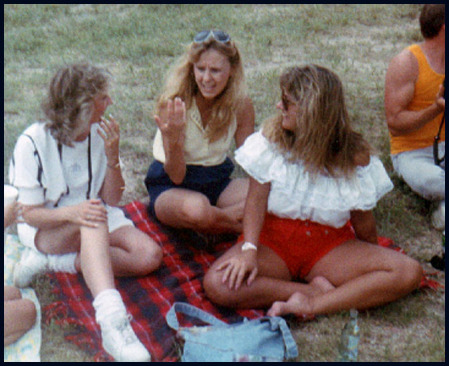
[[[163,140],[168,146],[183,146],[186,127],[186,106],[181,98],[168,100],[160,116],[154,116]]]

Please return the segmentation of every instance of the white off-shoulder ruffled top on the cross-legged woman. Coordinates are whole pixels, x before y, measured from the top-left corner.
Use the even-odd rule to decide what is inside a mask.
[[[368,211],[393,189],[380,159],[357,167],[347,180],[320,174],[312,179],[301,163],[291,163],[262,132],[255,132],[235,152],[239,165],[259,183],[271,183],[268,212],[284,218],[342,227],[353,210]]]

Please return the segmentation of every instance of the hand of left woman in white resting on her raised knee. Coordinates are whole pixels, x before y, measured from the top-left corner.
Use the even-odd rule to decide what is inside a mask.
[[[99,222],[106,222],[108,219],[106,208],[99,199],[84,201],[69,208],[69,221],[80,226],[95,228]]]

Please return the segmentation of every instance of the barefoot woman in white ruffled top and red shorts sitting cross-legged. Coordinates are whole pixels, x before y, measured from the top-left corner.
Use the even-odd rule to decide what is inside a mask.
[[[281,113],[236,151],[250,176],[243,234],[206,274],[215,303],[316,315],[416,289],[422,268],[377,245],[372,213],[393,185],[352,130],[338,76],[316,65],[280,79]]]

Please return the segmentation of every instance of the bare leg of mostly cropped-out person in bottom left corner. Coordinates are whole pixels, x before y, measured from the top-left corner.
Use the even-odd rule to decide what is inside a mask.
[[[36,307],[31,300],[22,299],[19,289],[4,288],[4,345],[22,337],[36,322]]]

